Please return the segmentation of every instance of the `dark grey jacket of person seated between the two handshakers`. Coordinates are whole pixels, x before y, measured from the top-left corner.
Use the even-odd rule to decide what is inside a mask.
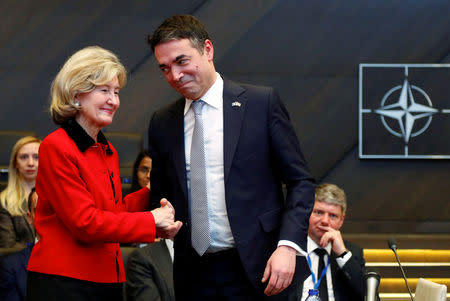
[[[173,266],[166,242],[136,249],[127,263],[128,301],[174,301]]]

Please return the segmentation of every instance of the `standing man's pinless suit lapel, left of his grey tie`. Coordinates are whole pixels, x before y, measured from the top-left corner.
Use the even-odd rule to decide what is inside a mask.
[[[173,162],[178,181],[187,200],[186,157],[184,152],[184,105],[185,99],[178,100],[171,110],[171,123],[173,124]]]

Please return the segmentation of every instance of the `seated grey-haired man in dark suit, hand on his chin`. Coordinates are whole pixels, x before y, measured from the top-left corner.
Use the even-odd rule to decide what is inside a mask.
[[[344,190],[334,184],[320,184],[316,188],[314,209],[309,219],[308,256],[299,257],[299,261],[309,261],[308,264],[298,266],[298,274],[303,276],[298,280],[298,288],[289,300],[305,300],[308,291],[314,288],[314,282],[320,279],[322,267],[325,268],[324,277],[320,281],[319,296],[322,301],[335,300],[364,300],[366,294],[365,261],[363,250],[342,239],[341,232],[347,209]],[[323,257],[320,251],[325,250]]]

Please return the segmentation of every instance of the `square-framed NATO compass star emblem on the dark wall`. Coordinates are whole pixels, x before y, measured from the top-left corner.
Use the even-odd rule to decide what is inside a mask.
[[[359,157],[450,159],[449,80],[450,64],[361,64]]]

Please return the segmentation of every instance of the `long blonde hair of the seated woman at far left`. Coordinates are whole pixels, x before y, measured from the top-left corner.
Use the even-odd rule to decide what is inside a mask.
[[[27,194],[25,185],[17,170],[17,154],[20,149],[29,143],[41,143],[39,138],[26,136],[19,139],[11,151],[8,169],[8,185],[0,193],[0,204],[11,215],[24,215],[27,213]]]

